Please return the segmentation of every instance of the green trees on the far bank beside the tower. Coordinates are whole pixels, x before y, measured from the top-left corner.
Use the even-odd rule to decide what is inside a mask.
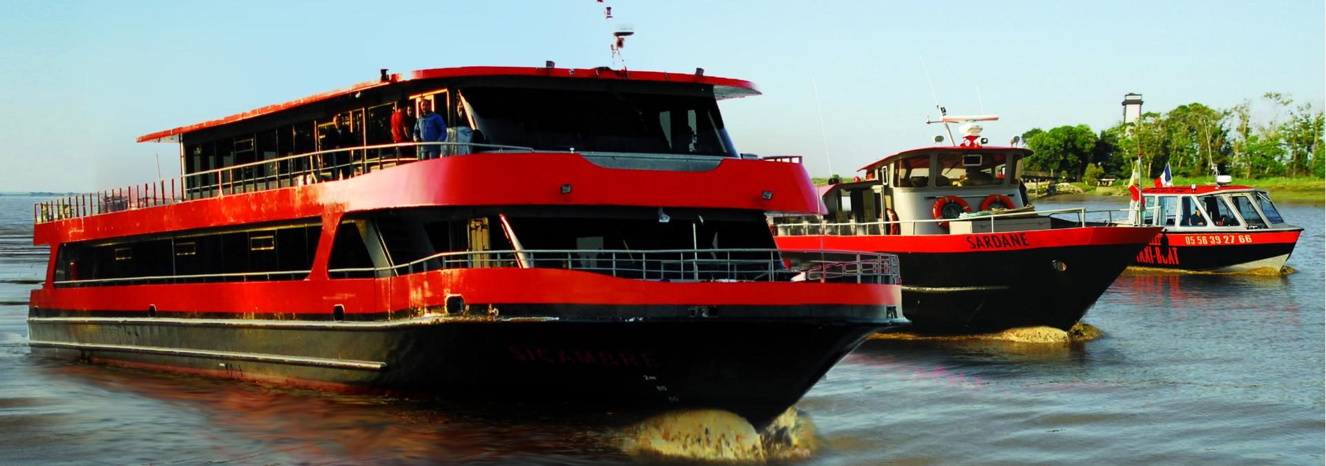
[[[1032,128],[1022,134],[1036,151],[1026,169],[1077,180],[1127,179],[1140,155],[1143,177],[1155,177],[1170,164],[1175,176],[1221,175],[1244,179],[1272,176],[1323,177],[1322,131],[1326,118],[1313,105],[1294,105],[1280,93],[1262,99],[1266,120],[1252,117],[1252,101],[1231,109],[1180,105],[1163,114],[1144,113],[1138,122],[1119,122],[1097,134],[1086,124]]]

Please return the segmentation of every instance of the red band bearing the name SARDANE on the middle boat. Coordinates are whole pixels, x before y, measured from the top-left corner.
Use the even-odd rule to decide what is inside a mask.
[[[781,249],[886,253],[971,253],[1089,245],[1143,244],[1159,226],[1089,226],[983,234],[780,236]],[[903,270],[903,273],[907,273]]]

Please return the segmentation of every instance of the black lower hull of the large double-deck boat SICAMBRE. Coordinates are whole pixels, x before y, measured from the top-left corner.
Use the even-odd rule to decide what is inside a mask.
[[[313,388],[716,408],[761,426],[866,335],[898,323],[869,318],[882,308],[835,308],[859,318],[32,318],[29,330],[38,356]]]

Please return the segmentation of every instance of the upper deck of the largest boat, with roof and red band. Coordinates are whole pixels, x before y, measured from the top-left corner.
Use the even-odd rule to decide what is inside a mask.
[[[160,224],[160,216],[184,212],[224,217],[208,220],[211,222],[228,221],[225,218],[235,217],[231,212],[245,209],[237,203],[255,205],[263,212],[277,212],[284,209],[278,207],[280,199],[325,201],[343,197],[337,193],[342,191],[335,188],[338,185],[351,191],[362,185],[386,189],[367,196],[379,204],[463,203],[475,199],[484,199],[485,203],[565,204],[575,199],[656,207],[727,203],[733,208],[768,207],[793,212],[806,210],[810,205],[813,212],[818,204],[814,189],[809,187],[809,180],[797,180],[804,176],[804,169],[793,164],[740,160],[727,136],[716,101],[757,94],[747,81],[602,68],[476,66],[383,73],[378,81],[143,135],[139,142],[180,144],[182,176],[38,204],[34,207],[37,240],[86,238],[94,230],[110,234],[119,228],[62,224],[135,210],[146,217],[119,216],[121,220],[114,222]],[[396,107],[415,110],[416,115],[424,107],[436,109],[450,128],[446,139],[416,142],[410,134],[402,140],[400,131],[392,134]],[[339,128],[334,123],[337,120]],[[342,130],[342,136],[334,136],[335,130]],[[456,158],[465,160],[442,163],[431,169],[407,169],[418,172],[415,175],[386,175],[391,168],[420,162],[416,155],[424,148],[435,148],[442,159],[465,155]],[[375,172],[385,175],[373,179],[395,181],[351,183],[351,179]],[[655,176],[658,172],[676,176],[659,177]],[[757,187],[753,184],[744,189],[760,189],[743,192],[737,201],[724,193],[749,183],[724,181],[724,177],[748,180]],[[562,180],[554,184],[556,199],[533,196],[517,200],[507,196],[522,192],[512,189],[521,183],[553,183],[552,179]],[[565,183],[572,179],[579,183]],[[617,185],[619,180],[635,184],[586,195],[586,191],[595,189],[594,185]],[[675,185],[662,185],[664,180]],[[391,196],[382,193],[399,192],[402,187],[383,187],[381,183],[411,183],[411,189],[416,192],[390,200]],[[430,187],[439,183],[448,187]],[[712,189],[708,195],[696,196],[687,195],[690,189],[682,189],[696,183]],[[558,192],[566,189],[561,187],[564,184],[568,188],[573,185],[574,192]],[[793,187],[790,193],[789,185]],[[464,193],[465,189],[475,192]],[[772,191],[780,195],[772,200],[762,199],[765,192],[772,195]],[[217,204],[223,197],[235,196],[247,197]],[[203,204],[156,210],[194,203]],[[373,208],[370,204],[358,203]],[[52,225],[42,228],[44,224]],[[84,234],[41,234],[44,230]]]

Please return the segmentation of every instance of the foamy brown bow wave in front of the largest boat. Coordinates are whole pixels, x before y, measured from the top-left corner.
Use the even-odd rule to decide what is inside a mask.
[[[764,463],[810,458],[815,428],[788,408],[762,432],[727,410],[696,409],[659,414],[623,432],[623,450],[635,458],[684,462]]]

